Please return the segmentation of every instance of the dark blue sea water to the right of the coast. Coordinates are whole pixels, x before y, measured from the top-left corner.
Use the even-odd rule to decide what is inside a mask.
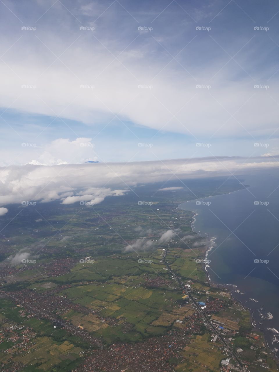
[[[180,208],[198,213],[194,231],[215,237],[208,252],[211,281],[235,286],[228,288],[253,310],[254,325],[279,357],[279,172],[238,178],[250,187]]]

